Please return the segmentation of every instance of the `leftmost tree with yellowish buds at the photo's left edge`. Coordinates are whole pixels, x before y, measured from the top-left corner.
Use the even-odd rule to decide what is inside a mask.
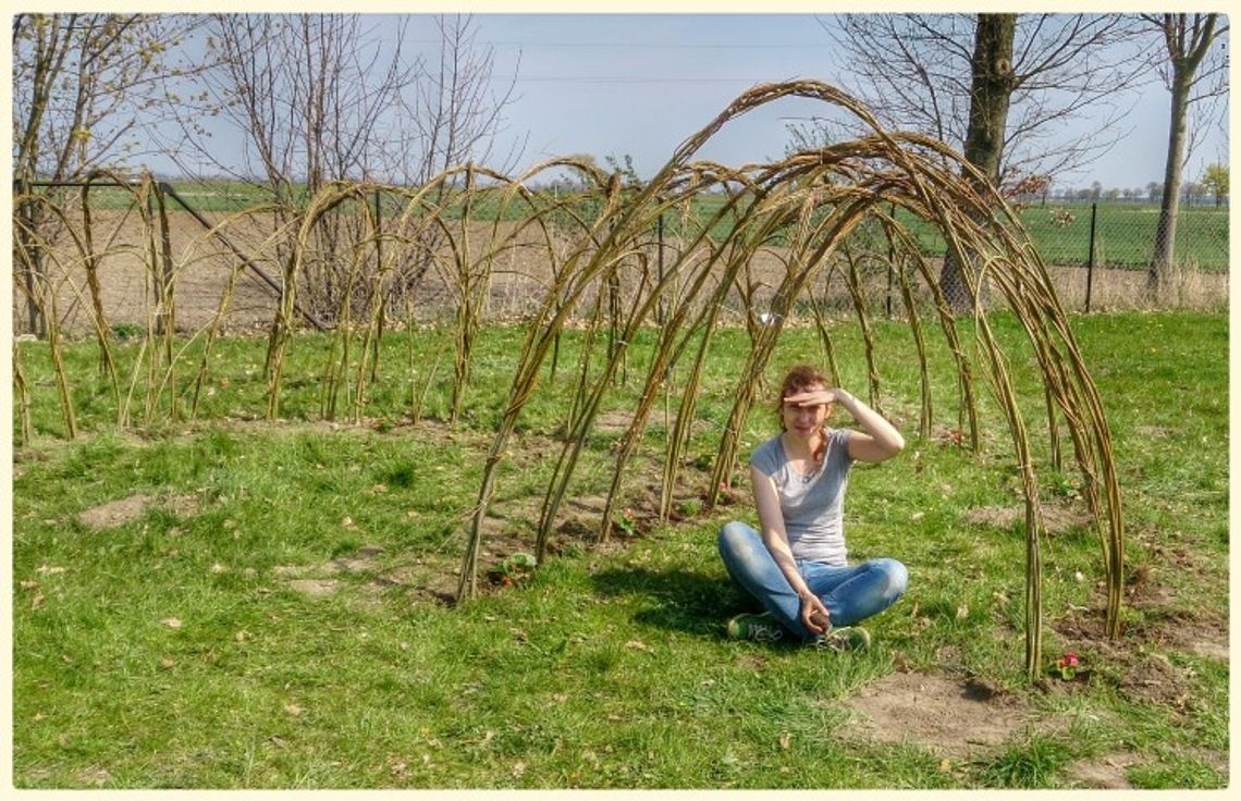
[[[66,182],[101,167],[123,169],[144,151],[144,122],[168,113],[169,74],[191,67],[179,45],[201,24],[192,16],[17,14],[12,19],[14,179],[29,197],[35,181]],[[43,263],[31,232],[46,229],[42,206],[20,202],[15,247],[26,325],[42,335]]]

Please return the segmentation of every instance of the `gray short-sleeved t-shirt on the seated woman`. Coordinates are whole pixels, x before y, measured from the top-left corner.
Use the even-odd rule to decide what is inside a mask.
[[[849,429],[827,429],[828,453],[808,476],[789,466],[779,436],[750,456],[750,464],[776,484],[789,551],[795,559],[845,564],[845,486],[849,484]]]

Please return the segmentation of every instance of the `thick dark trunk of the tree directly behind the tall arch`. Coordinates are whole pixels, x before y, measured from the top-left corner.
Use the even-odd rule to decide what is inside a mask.
[[[974,56],[970,60],[969,128],[965,131],[964,156],[992,184],[999,182],[1000,159],[1004,155],[1004,129],[1013,97],[1015,33],[1015,14],[978,15]],[[973,309],[974,299],[953,253],[944,257],[939,289],[954,314],[967,314]]]

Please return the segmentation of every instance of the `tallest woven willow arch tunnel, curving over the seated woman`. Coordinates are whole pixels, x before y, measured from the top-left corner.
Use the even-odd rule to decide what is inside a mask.
[[[833,144],[818,150],[793,154],[778,162],[726,170],[710,162],[692,161],[694,154],[730,120],[766,103],[786,98],[813,98],[853,115],[866,133],[851,141]],[[552,343],[565,326],[571,309],[582,300],[587,286],[608,277],[620,265],[642,259],[642,232],[670,210],[683,208],[694,196],[706,190],[722,190],[726,202],[716,218],[701,226],[691,247],[680,252],[666,265],[658,280],[650,280],[633,305],[622,310],[614,325],[619,329],[619,346],[607,355],[602,370],[589,386],[581,403],[575,404],[567,427],[563,450],[549,485],[540,517],[537,548],[540,555],[556,510],[565,496],[567,482],[577,464],[586,436],[599,409],[599,402],[620,366],[625,343],[637,329],[650,321],[661,298],[674,285],[679,288],[676,309],[659,329],[659,342],[648,371],[640,402],[629,429],[618,449],[612,492],[601,520],[601,536],[607,537],[612,510],[622,474],[633,445],[645,427],[656,393],[669,366],[686,356],[691,358],[690,378],[681,387],[676,425],[673,429],[674,453],[683,441],[686,422],[692,415],[697,377],[701,374],[706,347],[692,355],[686,345],[694,331],[706,331],[705,343],[715,324],[720,304],[717,293],[732,285],[755,253],[782,237],[787,248],[786,275],[771,300],[771,325],[755,329],[752,347],[735,387],[735,403],[720,440],[712,493],[731,475],[738,449],[738,433],[755,401],[755,387],[779,337],[783,320],[794,301],[802,299],[812,279],[824,269],[833,269],[850,236],[867,221],[877,222],[886,233],[894,257],[902,264],[903,285],[923,283],[932,296],[938,321],[953,353],[962,388],[963,417],[968,418],[970,438],[977,448],[975,413],[977,378],[965,357],[957,331],[957,320],[938,291],[936,277],[912,234],[897,218],[896,211],[933,223],[961,264],[967,265],[965,283],[973,298],[974,336],[984,353],[984,378],[989,382],[1003,408],[1016,456],[1016,470],[1025,496],[1026,529],[1026,670],[1034,677],[1041,652],[1041,537],[1042,515],[1030,446],[1031,433],[1021,414],[1010,377],[1009,358],[992,332],[982,304],[982,288],[993,286],[1020,320],[1029,336],[1041,371],[1052,440],[1052,454],[1059,459],[1057,418],[1069,425],[1073,456],[1086,486],[1086,498],[1100,534],[1103,573],[1107,584],[1107,631],[1119,631],[1119,605],[1123,567],[1123,522],[1112,460],[1107,419],[1098,393],[1082,361],[1052,289],[1045,265],[1033,248],[1021,226],[1005,201],[994,191],[978,192],[975,182],[961,179],[972,167],[959,155],[932,139],[880,128],[875,119],[846,94],[818,82],[793,82],[761,86],[735,100],[715,120],[688,139],[666,165],[640,191],[623,197],[613,181],[598,216],[589,224],[589,247],[573,252],[561,265],[557,279],[549,288],[537,312],[530,321],[513,379],[510,399],[504,410],[484,465],[478,503],[469,523],[468,542],[460,570],[459,598],[475,591],[483,520],[495,489],[496,467],[514,433],[521,410],[531,396]],[[731,229],[722,239],[710,241],[706,232],[712,224],[731,215]],[[702,246],[702,247],[694,247]],[[846,268],[848,269],[848,268]],[[903,294],[912,303],[911,294]],[[705,303],[696,303],[701,300]],[[860,299],[859,319],[865,325],[866,311]],[[911,314],[911,320],[917,315]],[[916,324],[915,324],[916,325]],[[918,352],[922,357],[923,414],[930,414],[923,331],[917,329]],[[867,358],[870,353],[867,351]],[[871,371],[874,373],[874,371]],[[926,420],[923,419],[923,428]],[[666,487],[675,480],[678,460],[669,458],[664,467],[663,508],[666,513]],[[715,501],[715,495],[711,498]]]

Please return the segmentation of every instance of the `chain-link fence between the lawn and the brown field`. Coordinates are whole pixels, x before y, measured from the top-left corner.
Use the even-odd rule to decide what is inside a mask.
[[[32,195],[19,196],[15,241],[26,257],[19,254],[14,270],[16,334],[41,334],[45,311],[67,332],[86,334],[101,324],[140,327],[153,322],[161,290],[175,301],[176,322],[185,330],[211,320],[223,330],[271,322],[287,268],[288,228],[297,224],[297,215],[278,211],[256,188],[237,184],[160,186],[163,192],[139,192],[103,181],[32,187],[37,202]],[[604,202],[597,191],[513,193],[495,187],[467,196],[459,190],[446,186],[414,203],[422,211],[434,208],[434,224],[423,224],[426,217],[411,212],[412,191],[380,187],[323,215],[300,257],[295,311],[319,326],[365,315],[372,284],[383,274],[386,303],[410,319],[452,316],[463,286],[477,293],[483,319],[520,319],[565,260],[581,255],[573,250],[583,239],[607,234],[591,232]],[[633,241],[633,264],[620,278],[635,286],[658,281],[663,265],[686,248],[712,258],[712,247],[728,239],[743,213],[742,206],[721,213],[724,206],[724,196],[704,195],[661,215]],[[37,226],[27,219],[35,211],[41,212]],[[1019,216],[1070,310],[1227,305],[1226,207],[1180,208],[1174,258],[1158,288],[1149,278],[1157,206],[1050,201],[1021,207]],[[938,229],[903,210],[895,210],[894,217],[917,242],[930,269],[941,272],[946,244]],[[370,243],[366,255],[357,248],[362,239]],[[891,257],[882,236],[855,238],[825,264],[793,312],[850,314],[861,301],[872,312],[891,314],[901,299]],[[475,269],[484,262],[485,277]],[[761,310],[788,272],[787,262],[778,234],[752,250],[725,296],[722,319],[736,322]],[[625,288],[608,291],[623,294]],[[40,293],[43,311],[32,300]],[[355,300],[344,304],[346,295]],[[669,298],[661,306],[675,303],[676,293]],[[581,314],[589,314],[592,303],[592,294],[583,295]]]

